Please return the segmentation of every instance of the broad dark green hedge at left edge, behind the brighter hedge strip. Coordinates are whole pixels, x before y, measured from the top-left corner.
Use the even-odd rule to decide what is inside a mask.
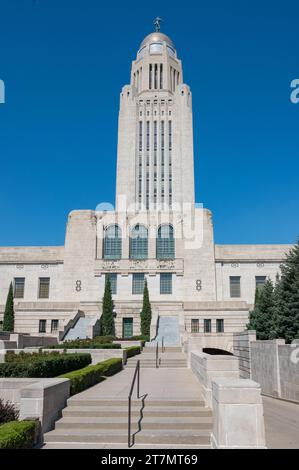
[[[90,363],[90,354],[49,354],[31,362],[0,364],[0,377],[56,377]]]

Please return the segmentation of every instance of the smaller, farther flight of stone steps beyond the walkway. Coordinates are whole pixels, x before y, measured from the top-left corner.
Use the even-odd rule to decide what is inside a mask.
[[[166,346],[162,352],[161,345],[159,344],[158,354],[159,367],[177,368],[187,367],[187,359],[179,346]],[[142,368],[155,368],[156,367],[156,350],[151,346],[143,348],[142,353],[127,360],[126,367],[135,368],[137,361],[140,360]]]

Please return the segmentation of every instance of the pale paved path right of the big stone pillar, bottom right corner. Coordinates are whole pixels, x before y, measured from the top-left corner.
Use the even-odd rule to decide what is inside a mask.
[[[269,449],[299,448],[299,404],[263,397]]]

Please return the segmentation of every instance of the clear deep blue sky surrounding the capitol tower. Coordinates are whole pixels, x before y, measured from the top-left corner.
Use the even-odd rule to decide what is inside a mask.
[[[119,92],[157,15],[193,92],[215,241],[296,240],[298,1],[0,0],[0,245],[63,244],[69,211],[114,202]]]

